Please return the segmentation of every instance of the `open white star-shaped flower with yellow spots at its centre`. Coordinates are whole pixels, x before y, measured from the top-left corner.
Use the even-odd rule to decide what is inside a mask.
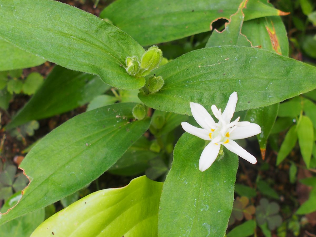
[[[219,153],[221,145],[244,158],[246,161],[252,164],[257,163],[256,158],[234,140],[257,135],[261,132],[261,128],[258,124],[239,122],[240,117],[230,122],[235,112],[236,104],[237,92],[234,92],[229,96],[227,106],[223,113],[221,109],[217,109],[215,105],[212,105],[212,112],[218,119],[218,123],[215,123],[212,116],[210,116],[202,105],[190,102],[192,115],[202,128],[194,127],[187,122],[181,123],[182,128],[194,136],[211,141],[204,148],[200,156],[200,171],[204,171],[211,166]]]

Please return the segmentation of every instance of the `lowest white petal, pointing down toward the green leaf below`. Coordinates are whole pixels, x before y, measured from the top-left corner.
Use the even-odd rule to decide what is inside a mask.
[[[198,167],[200,169],[200,171],[204,171],[206,169],[208,169],[211,164],[213,164],[213,162],[215,161],[219,149],[220,149],[221,145],[216,145],[214,143],[209,143],[204,150],[202,151],[202,154],[200,156],[200,160],[198,162]]]

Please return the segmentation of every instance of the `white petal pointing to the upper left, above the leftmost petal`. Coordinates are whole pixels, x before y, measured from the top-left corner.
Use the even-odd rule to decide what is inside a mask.
[[[210,126],[205,122],[205,120],[207,119],[209,124],[214,124],[215,126],[215,121],[212,118],[212,116],[210,116],[209,112],[207,112],[207,110],[200,104],[198,103],[194,103],[194,102],[190,102],[190,107],[191,107],[191,113],[195,119],[195,121],[197,121],[197,123],[204,129],[206,130],[211,130]]]

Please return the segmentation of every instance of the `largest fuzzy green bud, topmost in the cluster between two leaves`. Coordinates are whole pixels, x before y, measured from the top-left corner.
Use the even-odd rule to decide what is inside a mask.
[[[141,67],[148,71],[151,71],[158,67],[162,59],[162,51],[157,46],[151,46],[149,49],[143,54],[141,60]]]

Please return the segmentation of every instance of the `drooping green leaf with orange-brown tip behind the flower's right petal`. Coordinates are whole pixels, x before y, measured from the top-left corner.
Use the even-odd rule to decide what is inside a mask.
[[[261,133],[257,135],[261,155],[264,159],[267,140],[276,121],[276,115],[279,109],[279,103],[274,105],[261,107],[258,109],[248,110],[246,113],[245,121],[256,123],[261,127]]]

